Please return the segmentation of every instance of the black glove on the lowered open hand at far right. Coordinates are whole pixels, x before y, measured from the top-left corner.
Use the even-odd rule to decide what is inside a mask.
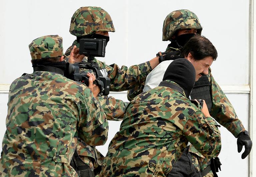
[[[250,154],[252,149],[252,141],[247,131],[240,132],[237,136],[237,151],[241,152],[243,146],[245,147],[245,151],[242,154],[242,159]]]

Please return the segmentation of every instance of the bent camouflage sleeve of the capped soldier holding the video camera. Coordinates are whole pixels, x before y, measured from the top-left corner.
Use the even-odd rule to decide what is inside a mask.
[[[100,103],[86,88],[80,99],[78,132],[80,138],[90,146],[103,145],[107,141],[108,121]]]

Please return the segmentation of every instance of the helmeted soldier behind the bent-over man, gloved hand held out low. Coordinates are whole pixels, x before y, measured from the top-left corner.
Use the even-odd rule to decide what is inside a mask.
[[[162,39],[163,41],[171,41],[166,49],[166,52],[168,52],[167,57],[173,58],[173,60],[180,58],[180,50],[182,46],[184,46],[184,44],[195,34],[201,35],[201,31],[202,27],[200,22],[193,12],[189,10],[176,10],[168,14],[163,24]],[[166,62],[164,61],[161,64],[164,66],[166,65]],[[157,67],[162,67],[160,65]],[[154,71],[152,71],[152,75],[153,72]],[[162,77],[163,74],[164,71],[162,71]],[[211,116],[237,138],[238,152],[241,152],[242,147],[245,146],[245,152],[242,154],[242,158],[244,159],[250,153],[252,147],[252,141],[250,140],[248,132],[245,130],[242,122],[238,119],[235,110],[226,95],[214,80],[211,74],[211,69],[209,68],[208,72],[203,74],[205,75],[202,75],[202,77],[195,82],[191,98],[204,99],[206,101]],[[161,77],[159,77],[159,79],[161,79]],[[155,81],[156,83],[154,85],[157,86],[160,80]],[[128,98],[132,99],[136,94],[142,92],[143,85],[137,86],[134,90],[129,91]],[[151,88],[154,87],[152,86]],[[190,147],[189,152],[191,153],[194,166],[197,170],[202,171],[203,176],[206,175],[207,172],[211,170],[209,160],[198,153],[193,146]],[[207,176],[217,176],[217,174],[210,171]]]

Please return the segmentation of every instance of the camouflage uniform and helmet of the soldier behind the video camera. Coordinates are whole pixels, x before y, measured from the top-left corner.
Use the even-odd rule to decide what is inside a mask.
[[[97,31],[115,32],[110,15],[100,7],[81,7],[71,18],[70,33],[77,37],[92,35]],[[65,52],[69,56],[73,46],[79,48],[79,42],[75,40],[73,44]],[[87,61],[85,57],[83,61]],[[110,91],[124,91],[132,89],[137,85],[145,82],[148,73],[152,70],[150,63],[145,62],[131,67],[122,66],[119,68],[116,64],[106,65],[94,58],[93,62],[105,69],[107,77],[110,78]],[[113,97],[102,97],[99,99],[104,111],[107,113],[108,120],[122,120],[127,103],[122,100],[116,100]],[[95,147],[79,142],[79,156],[90,165],[91,169],[95,169],[98,165],[102,165],[104,156],[100,154]],[[93,160],[94,159],[94,160]]]

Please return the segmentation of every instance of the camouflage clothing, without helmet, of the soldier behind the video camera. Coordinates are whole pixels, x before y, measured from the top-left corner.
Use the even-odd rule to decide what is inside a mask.
[[[79,48],[79,43],[75,40],[65,52],[67,55],[71,52],[73,46],[76,45]],[[83,61],[87,61],[85,57]],[[129,90],[137,85],[141,85],[145,80],[152,68],[149,62],[145,62],[139,65],[133,65],[131,67],[122,66],[119,68],[116,64],[106,65],[105,62],[101,62],[94,58],[94,62],[98,64],[100,68],[105,68],[110,78],[110,91],[124,91]],[[124,111],[127,106],[126,102],[117,100],[114,97],[97,97],[102,108],[104,109],[108,120],[122,120]],[[79,142],[78,154],[90,167],[96,168],[98,165],[102,165],[104,156],[95,148],[85,143]]]

